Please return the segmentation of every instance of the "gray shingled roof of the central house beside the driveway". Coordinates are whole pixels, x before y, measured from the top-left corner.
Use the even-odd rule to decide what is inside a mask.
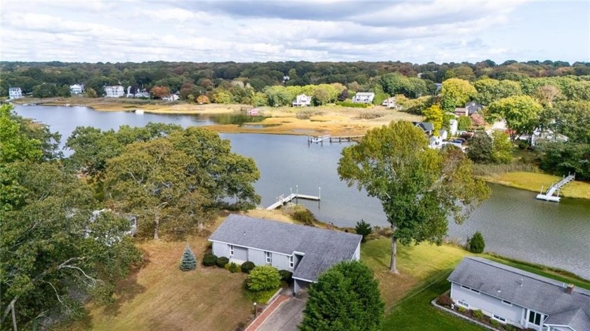
[[[353,259],[362,236],[243,215],[229,215],[209,241],[292,255],[303,253],[294,278],[317,281],[337,262]]]

